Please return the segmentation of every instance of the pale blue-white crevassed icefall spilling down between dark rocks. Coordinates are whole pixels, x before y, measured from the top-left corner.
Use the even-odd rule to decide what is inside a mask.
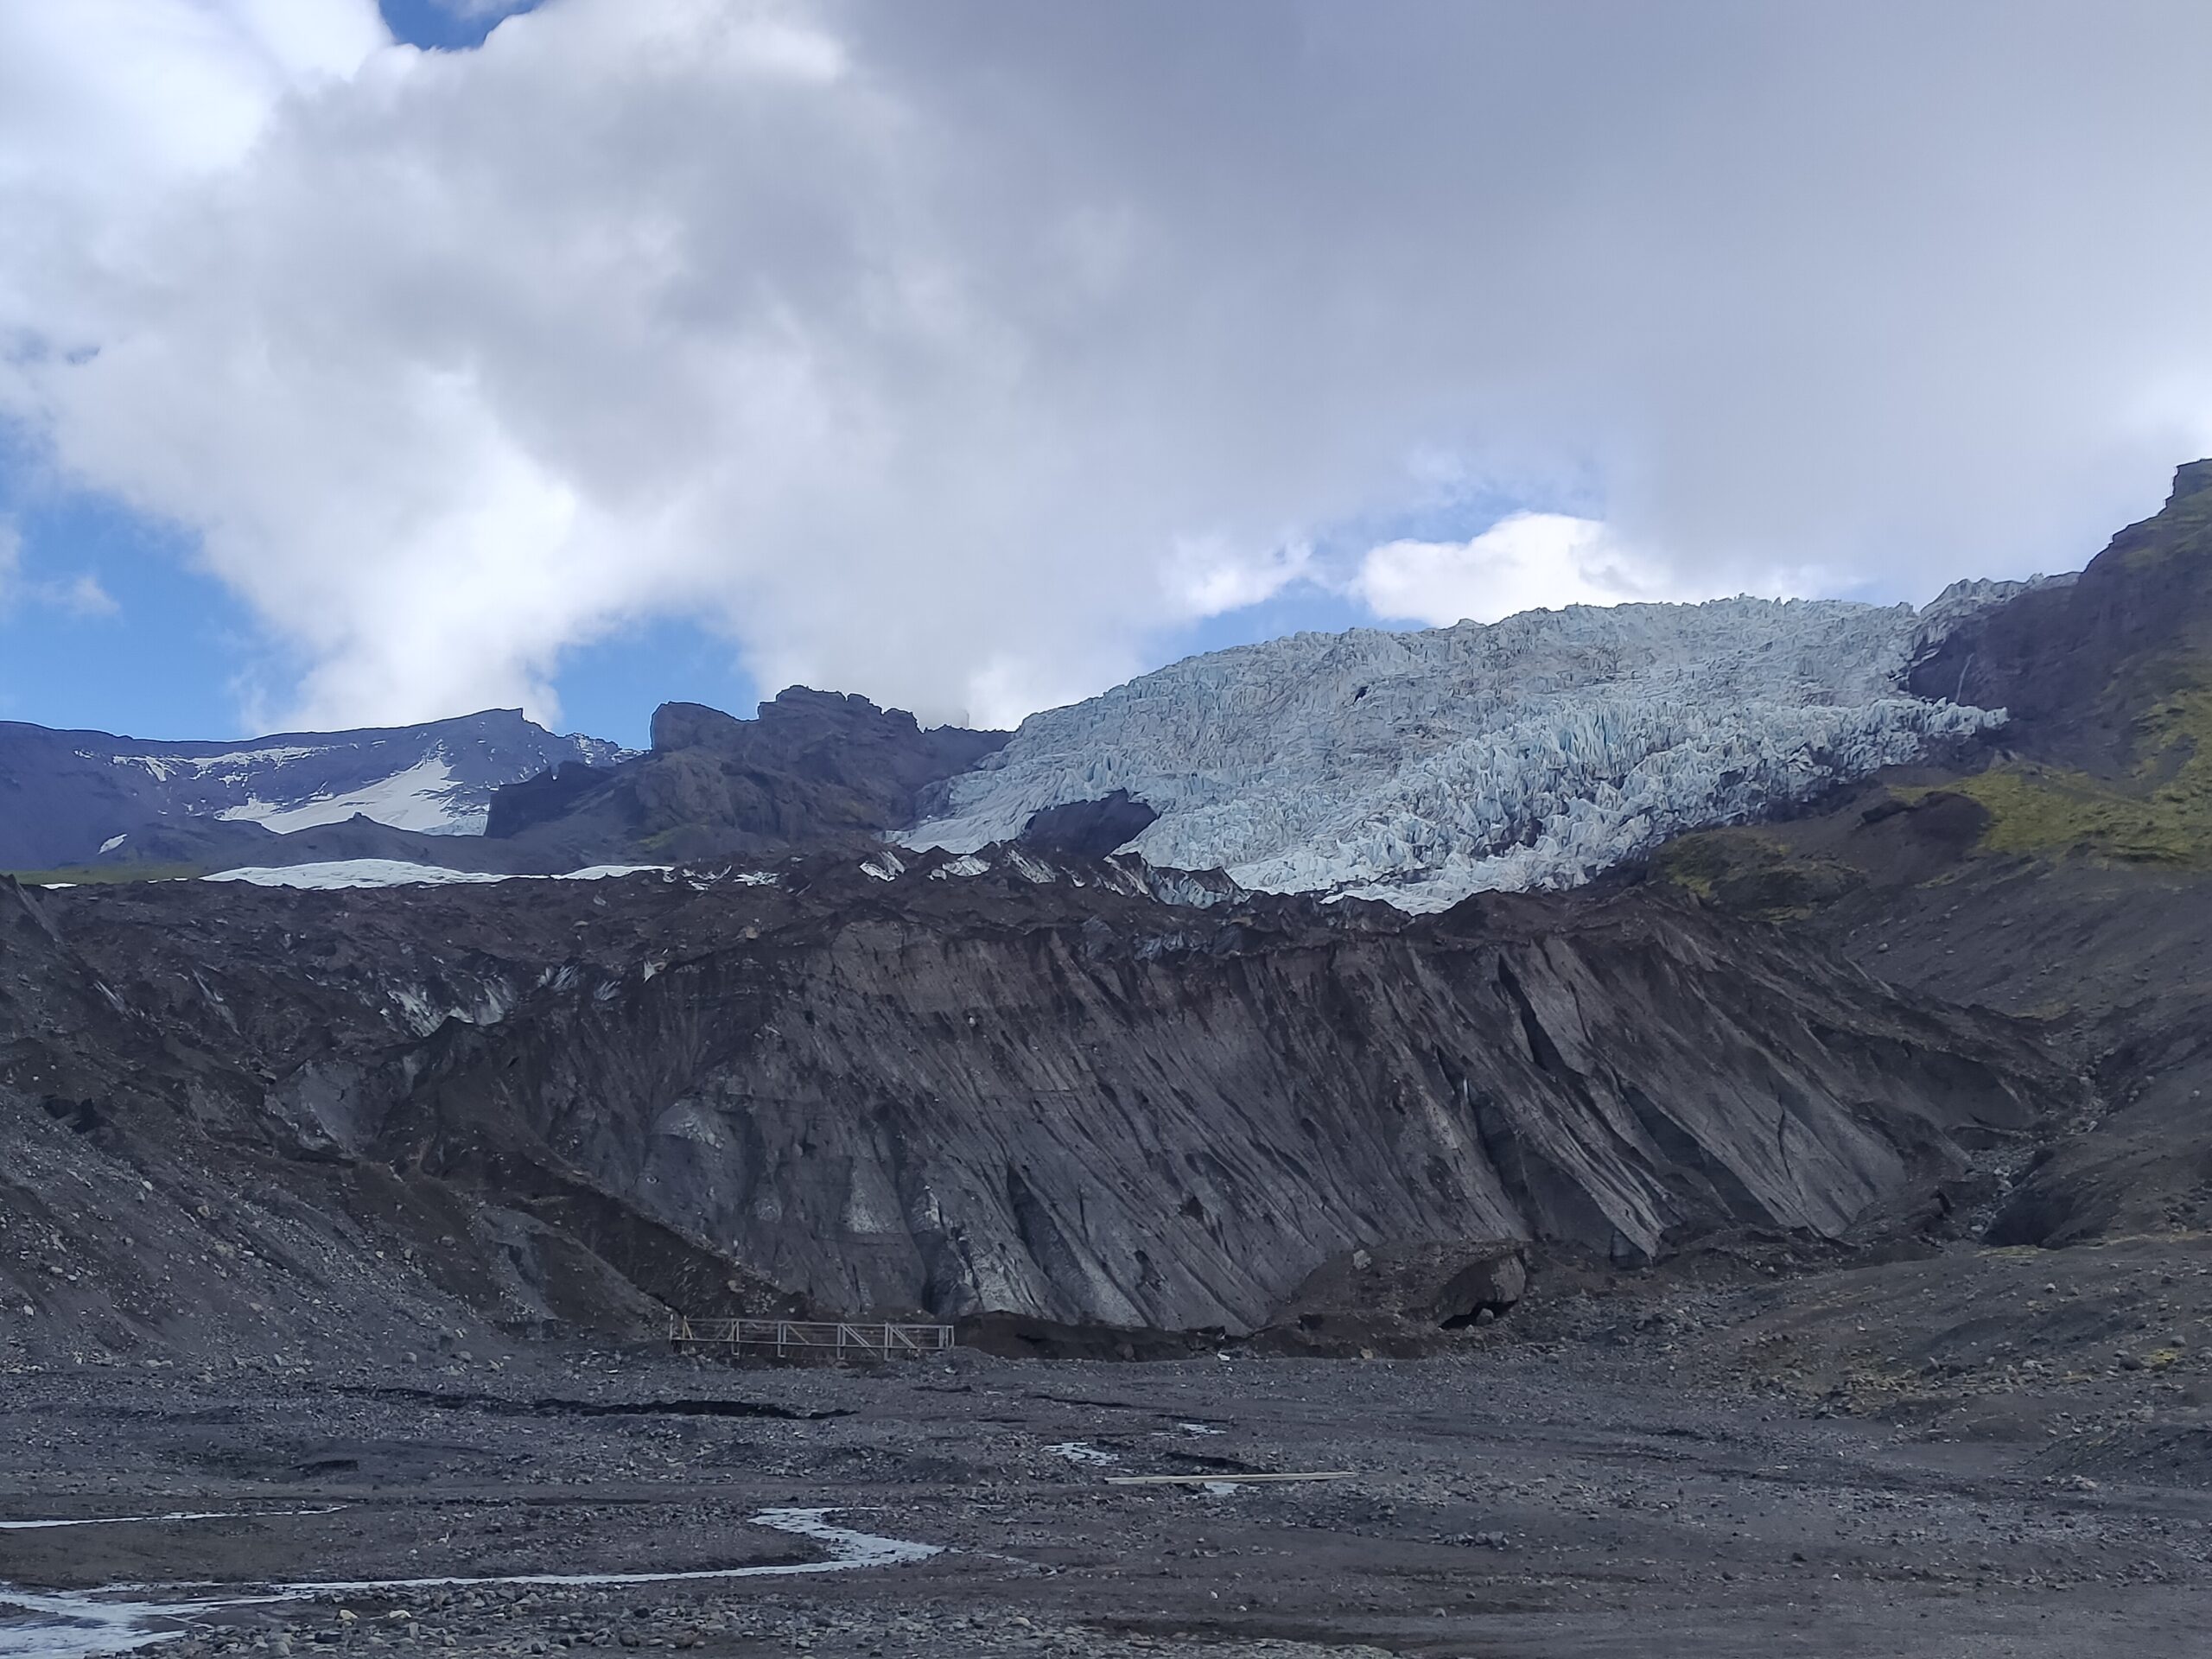
[[[1217,650],[1033,714],[907,841],[967,852],[1126,790],[1159,812],[1130,849],[1245,887],[1405,909],[1564,887],[2000,723],[1902,686],[2022,586],[1962,582],[1924,611],[1571,606]]]

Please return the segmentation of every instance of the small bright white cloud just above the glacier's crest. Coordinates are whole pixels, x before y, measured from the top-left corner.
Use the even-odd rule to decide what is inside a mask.
[[[1509,513],[1467,542],[1385,542],[1352,580],[1378,617],[1498,622],[1515,611],[1690,597],[1593,518]],[[1705,595],[1699,595],[1705,597]]]

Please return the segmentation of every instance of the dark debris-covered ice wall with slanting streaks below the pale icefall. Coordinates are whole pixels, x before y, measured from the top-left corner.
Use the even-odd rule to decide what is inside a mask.
[[[471,1267],[509,1318],[624,1307],[553,1281],[706,1305],[726,1263],[847,1312],[1250,1327],[1363,1243],[1635,1263],[1717,1228],[1966,1225],[2079,1093],[2002,1020],[1635,891],[1427,920],[1157,891],[1009,852],[588,891],[58,894],[11,960],[66,951],[113,1000],[11,1015],[7,1053],[44,1053],[42,1024],[201,1055],[221,1086],[195,1157],[507,1217],[445,1237],[535,1263]],[[137,1035],[93,1031],[117,1020]],[[7,1064],[29,1106],[35,1060]],[[387,1223],[347,1225],[369,1248]]]

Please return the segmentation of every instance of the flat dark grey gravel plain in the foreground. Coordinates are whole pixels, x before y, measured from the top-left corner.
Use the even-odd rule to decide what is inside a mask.
[[[1995,1254],[1971,1294],[2044,1270]],[[2112,1334],[2093,1347],[2115,1363],[2081,1347],[2042,1383],[1969,1354],[1918,1394],[1885,1389],[1809,1336],[1770,1376],[1745,1356],[1772,1349],[1774,1321],[1847,1318],[1847,1276],[1807,1283],[1814,1301],[1568,1298],[1579,1312],[1427,1360],[956,1352],[836,1371],[522,1347],[285,1376],[42,1369],[0,1389],[0,1520],[237,1517],[0,1528],[0,1582],[175,1606],[292,1582],[803,1564],[834,1551],[763,1515],[823,1509],[942,1553],[812,1577],[349,1588],[115,1639],[177,1630],[159,1648],[177,1659],[2205,1650],[2203,1451],[2097,1462],[2126,1462],[2130,1429],[2192,1422],[2194,1380],[2128,1369]],[[2143,1336],[2124,1325],[2121,1345]],[[1110,1484],[1250,1471],[1349,1475]],[[0,1652],[86,1650],[40,1648],[42,1628],[0,1615]]]

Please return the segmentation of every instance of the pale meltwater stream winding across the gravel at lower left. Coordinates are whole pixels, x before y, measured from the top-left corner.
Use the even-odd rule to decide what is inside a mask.
[[[270,1511],[261,1511],[270,1513]],[[276,1511],[314,1513],[314,1511]],[[416,1577],[416,1579],[301,1579],[296,1584],[270,1584],[259,1593],[241,1595],[190,1595],[210,1586],[199,1584],[111,1584],[100,1590],[33,1593],[0,1584],[0,1659],[93,1659],[108,1652],[133,1652],[159,1641],[175,1641],[184,1635],[177,1621],[212,1608],[237,1608],[261,1601],[303,1601],[312,1595],[372,1595],[378,1590],[436,1590],[473,1588],[498,1584],[675,1584],[692,1579],[752,1579],[792,1577],[799,1573],[849,1573],[865,1566],[905,1566],[940,1555],[938,1544],[916,1544],[905,1537],[883,1537],[878,1533],[856,1533],[847,1526],[832,1526],[834,1509],[763,1509],[752,1517],[754,1526],[770,1526],[779,1533],[812,1537],[827,1551],[821,1562],[790,1562],[770,1566],[712,1566],[681,1573],[502,1573],[489,1577]],[[124,1522],[197,1522],[197,1520],[259,1520],[248,1513],[179,1513],[179,1515],[117,1515]],[[95,1526],[100,1522],[7,1522],[18,1531],[38,1526]]]

